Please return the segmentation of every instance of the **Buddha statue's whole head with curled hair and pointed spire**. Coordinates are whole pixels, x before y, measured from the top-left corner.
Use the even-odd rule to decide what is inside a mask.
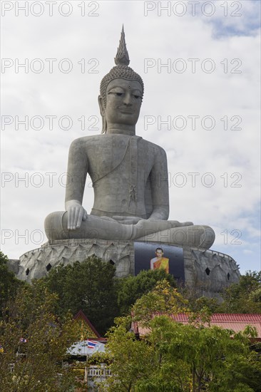
[[[128,66],[130,60],[123,29],[114,61],[116,66],[103,77],[98,97],[103,118],[102,133],[106,133],[107,122],[135,125],[143,99],[143,80]]]

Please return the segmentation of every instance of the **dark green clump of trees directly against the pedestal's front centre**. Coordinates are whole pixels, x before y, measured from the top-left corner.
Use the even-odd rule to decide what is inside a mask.
[[[95,256],[85,262],[51,269],[44,278],[46,287],[58,294],[58,314],[82,309],[100,334],[113,325],[116,316],[129,314],[136,299],[148,293],[157,282],[166,279],[175,287],[175,279],[163,269],[141,271],[137,277],[116,279],[116,269]]]

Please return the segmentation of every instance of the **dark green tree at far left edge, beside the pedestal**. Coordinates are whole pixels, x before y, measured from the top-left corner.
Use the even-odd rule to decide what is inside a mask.
[[[9,271],[7,262],[8,257],[0,252],[0,318],[6,301],[14,298],[19,287],[24,284],[24,282],[16,279],[13,272]]]

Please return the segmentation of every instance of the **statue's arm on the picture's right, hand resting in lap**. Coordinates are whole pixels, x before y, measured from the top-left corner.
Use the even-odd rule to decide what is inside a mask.
[[[155,155],[155,163],[150,175],[153,212],[148,220],[168,220],[168,165],[166,153],[163,148],[159,148]]]

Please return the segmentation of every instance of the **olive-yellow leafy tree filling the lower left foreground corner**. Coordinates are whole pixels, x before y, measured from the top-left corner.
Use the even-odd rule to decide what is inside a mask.
[[[61,366],[74,341],[73,322],[57,318],[56,301],[56,294],[35,282],[8,302],[0,321],[2,392],[68,391],[74,384]]]

